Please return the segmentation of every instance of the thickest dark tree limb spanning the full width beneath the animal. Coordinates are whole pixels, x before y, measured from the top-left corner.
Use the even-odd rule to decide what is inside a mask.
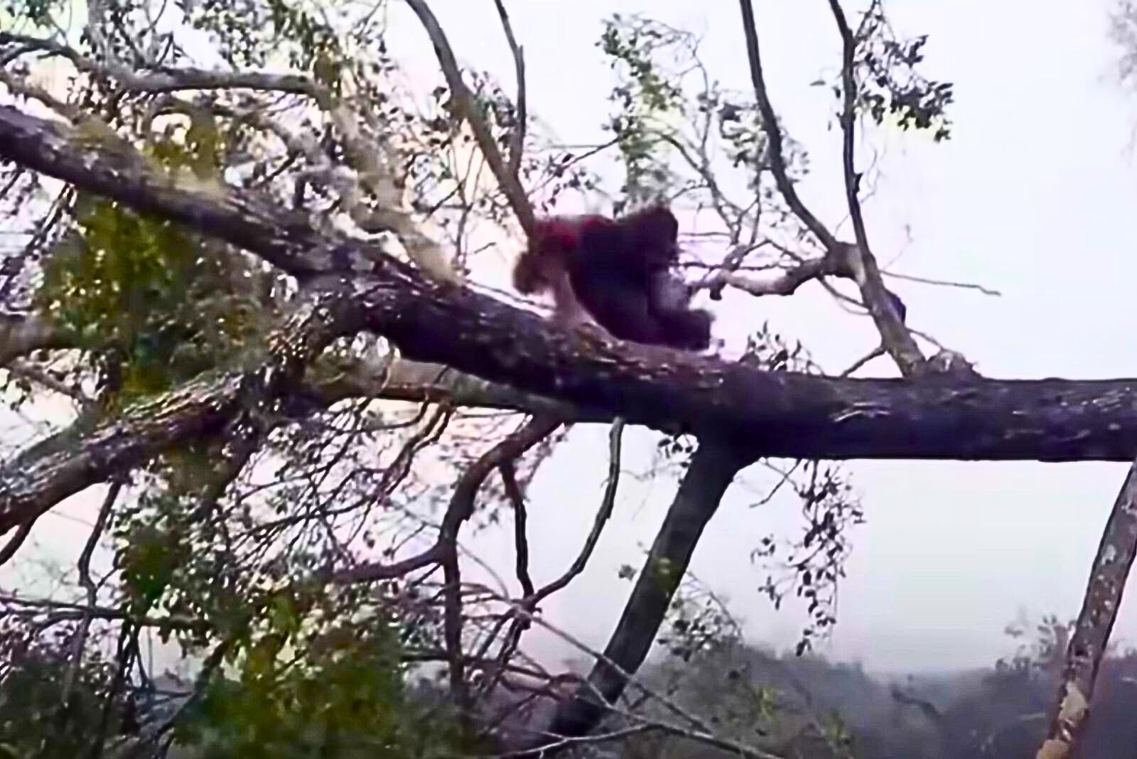
[[[837,380],[573,334],[317,232],[248,193],[169,184],[66,126],[0,107],[0,157],[225,239],[308,280],[335,272],[364,328],[404,356],[630,424],[733,437],[756,456],[1129,461],[1137,380]],[[352,270],[370,262],[370,272]],[[219,400],[219,399],[214,399]]]

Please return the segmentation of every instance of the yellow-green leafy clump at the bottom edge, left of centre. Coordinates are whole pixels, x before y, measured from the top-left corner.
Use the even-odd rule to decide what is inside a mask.
[[[455,756],[457,724],[409,698],[398,624],[347,595],[275,594],[230,656],[234,677],[210,682],[177,742],[202,759]]]

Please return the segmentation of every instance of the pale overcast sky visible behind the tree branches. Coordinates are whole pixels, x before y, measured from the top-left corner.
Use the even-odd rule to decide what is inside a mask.
[[[595,43],[614,11],[705,36],[704,62],[728,87],[747,89],[737,3],[682,0],[514,0],[526,50],[530,109],[566,143],[596,141],[612,74]],[[391,52],[409,70],[437,76],[433,52],[409,11],[391,14]],[[495,72],[512,89],[513,65],[490,0],[435,0],[459,60]],[[912,326],[962,351],[988,376],[1137,377],[1132,283],[1137,282],[1137,166],[1131,155],[1137,95],[1117,83],[1107,39],[1110,3],[893,0],[903,35],[928,33],[924,74],[955,83],[953,139],[883,135],[877,194],[865,207],[882,265],[908,275],[978,282],[974,291],[891,281]],[[774,108],[811,155],[800,185],[828,224],[844,217],[839,140],[827,127],[832,101],[808,84],[839,62],[822,0],[755,2]],[[431,82],[433,84],[433,82]],[[847,230],[843,236],[850,237]],[[815,285],[791,299],[733,297],[716,325],[737,340],[769,319],[798,336],[829,372],[878,339],[871,322],[838,309]],[[730,315],[725,314],[730,309]],[[865,374],[894,375],[878,360]],[[628,466],[642,465],[652,436],[629,431]],[[534,582],[559,574],[579,550],[604,486],[606,429],[582,428],[536,483],[530,507]],[[889,672],[989,665],[1011,650],[1003,629],[1016,614],[1078,612],[1101,529],[1126,473],[1118,464],[850,462],[868,524],[841,587],[839,622],[820,647],[830,657]],[[692,570],[729,598],[754,640],[796,641],[799,609],[772,610],[756,592],[764,574],[749,552],[769,532],[800,528],[797,506],[750,508],[766,482],[732,486],[695,553]],[[603,647],[673,493],[625,478],[616,514],[588,570],[547,607],[549,618]],[[36,556],[74,562],[98,494],[70,499],[42,519]],[[504,531],[508,532],[508,531]],[[499,557],[506,535],[468,543]],[[34,567],[24,565],[20,576]],[[0,577],[11,582],[15,570]],[[1127,599],[1114,636],[1137,644],[1137,606]],[[571,652],[549,640],[553,661]],[[551,662],[550,662],[551,664]]]

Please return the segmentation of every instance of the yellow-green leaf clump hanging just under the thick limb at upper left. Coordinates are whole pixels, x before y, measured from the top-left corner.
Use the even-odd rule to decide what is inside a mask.
[[[159,142],[153,155],[200,168],[211,144]],[[78,336],[111,390],[161,392],[258,343],[269,280],[255,259],[103,198],[80,194],[72,212],[36,306]]]

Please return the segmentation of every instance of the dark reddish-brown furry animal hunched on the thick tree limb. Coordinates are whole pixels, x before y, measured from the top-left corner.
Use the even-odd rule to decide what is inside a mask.
[[[679,222],[663,206],[620,219],[551,216],[538,220],[513,282],[550,292],[565,326],[595,322],[621,340],[706,350],[714,317],[690,308],[690,287],[671,270],[678,260]]]

